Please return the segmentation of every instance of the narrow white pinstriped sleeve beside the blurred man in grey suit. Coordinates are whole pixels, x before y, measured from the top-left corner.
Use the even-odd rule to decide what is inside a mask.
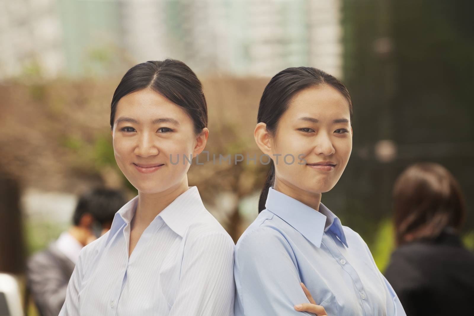
[[[87,247],[87,246],[86,246]],[[79,259],[74,267],[73,275],[66,289],[66,300],[59,312],[59,316],[79,316],[79,292],[82,286],[84,257],[86,247],[82,248]]]

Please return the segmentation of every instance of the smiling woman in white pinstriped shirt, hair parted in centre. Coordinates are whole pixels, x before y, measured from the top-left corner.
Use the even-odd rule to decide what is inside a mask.
[[[149,61],[123,76],[110,105],[112,144],[138,195],[84,247],[61,316],[233,315],[234,242],[188,185],[207,123],[201,81],[185,63]]]

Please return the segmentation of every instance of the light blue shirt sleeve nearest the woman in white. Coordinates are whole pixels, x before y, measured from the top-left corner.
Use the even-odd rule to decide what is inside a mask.
[[[296,304],[309,303],[290,244],[278,231],[258,227],[237,243],[234,275],[236,316],[311,315]]]

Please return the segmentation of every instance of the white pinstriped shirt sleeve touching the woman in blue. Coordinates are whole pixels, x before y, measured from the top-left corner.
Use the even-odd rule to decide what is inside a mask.
[[[198,237],[185,251],[169,316],[233,315],[234,243],[227,233]]]

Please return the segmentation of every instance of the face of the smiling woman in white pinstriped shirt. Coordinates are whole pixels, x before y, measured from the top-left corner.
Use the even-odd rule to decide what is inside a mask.
[[[190,167],[183,155],[189,158],[201,153],[207,135],[204,128],[196,136],[184,109],[154,90],[135,91],[117,103],[112,130],[115,160],[142,193],[178,186]]]

